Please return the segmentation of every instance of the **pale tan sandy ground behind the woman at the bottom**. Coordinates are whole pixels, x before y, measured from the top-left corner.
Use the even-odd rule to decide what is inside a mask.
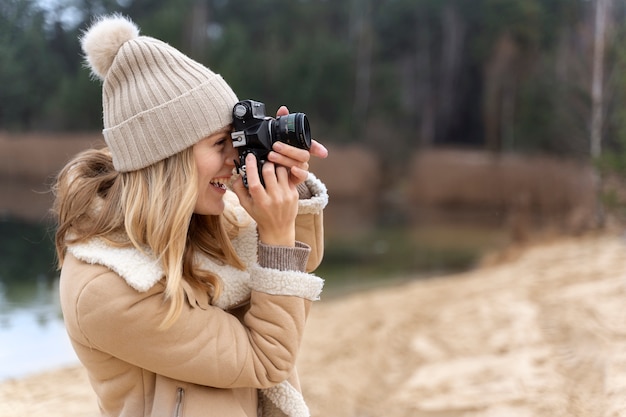
[[[318,302],[313,416],[626,415],[626,241],[587,236],[471,272]],[[95,416],[81,367],[0,384],[1,416]]]

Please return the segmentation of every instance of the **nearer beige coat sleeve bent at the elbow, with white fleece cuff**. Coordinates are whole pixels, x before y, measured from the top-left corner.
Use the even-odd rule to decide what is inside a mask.
[[[66,277],[63,277],[63,275]],[[89,274],[73,294],[66,322],[78,343],[169,378],[216,388],[267,388],[289,377],[311,300],[322,280],[257,266],[243,323],[218,307],[184,304],[176,323],[159,330],[164,283],[130,288],[104,266],[66,259],[62,280]],[[71,275],[71,276],[70,276]],[[296,296],[294,296],[296,295]]]

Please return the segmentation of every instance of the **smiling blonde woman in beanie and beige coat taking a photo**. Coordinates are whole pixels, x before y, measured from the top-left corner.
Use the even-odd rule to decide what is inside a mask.
[[[276,143],[265,187],[249,155],[246,188],[219,75],[121,16],[81,44],[107,147],[62,170],[54,211],[64,320],[102,415],[308,416],[294,364],[328,197],[307,170],[326,150]]]

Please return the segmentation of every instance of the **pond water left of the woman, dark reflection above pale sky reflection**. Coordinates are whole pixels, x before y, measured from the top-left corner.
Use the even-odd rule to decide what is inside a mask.
[[[0,218],[0,381],[77,363],[50,226]]]

